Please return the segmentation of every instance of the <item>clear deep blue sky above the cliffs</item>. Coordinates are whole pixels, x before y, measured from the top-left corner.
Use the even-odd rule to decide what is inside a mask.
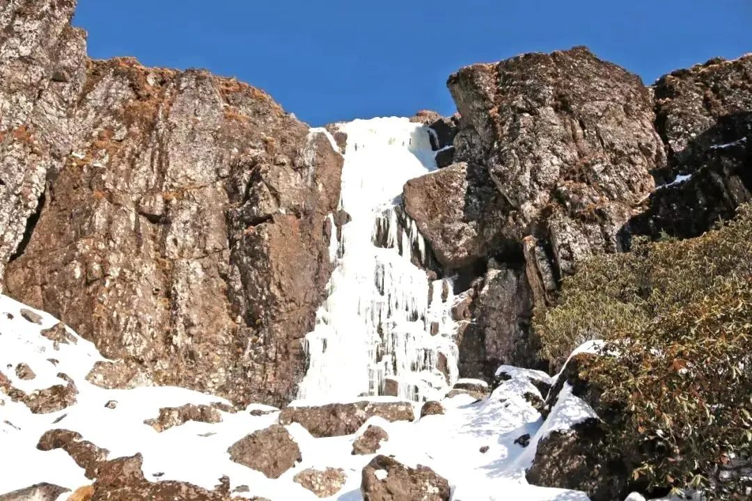
[[[208,68],[313,125],[454,111],[473,62],[587,45],[647,83],[752,52],[752,0],[79,0],[94,58]]]

